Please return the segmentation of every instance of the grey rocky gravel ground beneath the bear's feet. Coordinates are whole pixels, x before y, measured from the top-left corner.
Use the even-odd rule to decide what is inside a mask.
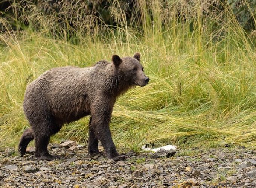
[[[256,152],[241,146],[177,150],[160,158],[128,152],[118,162],[91,158],[73,141],[52,144],[50,153],[61,156],[54,161],[37,161],[31,147],[28,152],[1,152],[0,187],[256,187]]]

